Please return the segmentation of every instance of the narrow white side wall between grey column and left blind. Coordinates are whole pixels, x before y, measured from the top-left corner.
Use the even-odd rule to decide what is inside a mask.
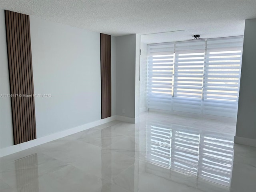
[[[148,67],[148,44],[140,43],[140,112],[148,110],[147,108],[147,67]]]

